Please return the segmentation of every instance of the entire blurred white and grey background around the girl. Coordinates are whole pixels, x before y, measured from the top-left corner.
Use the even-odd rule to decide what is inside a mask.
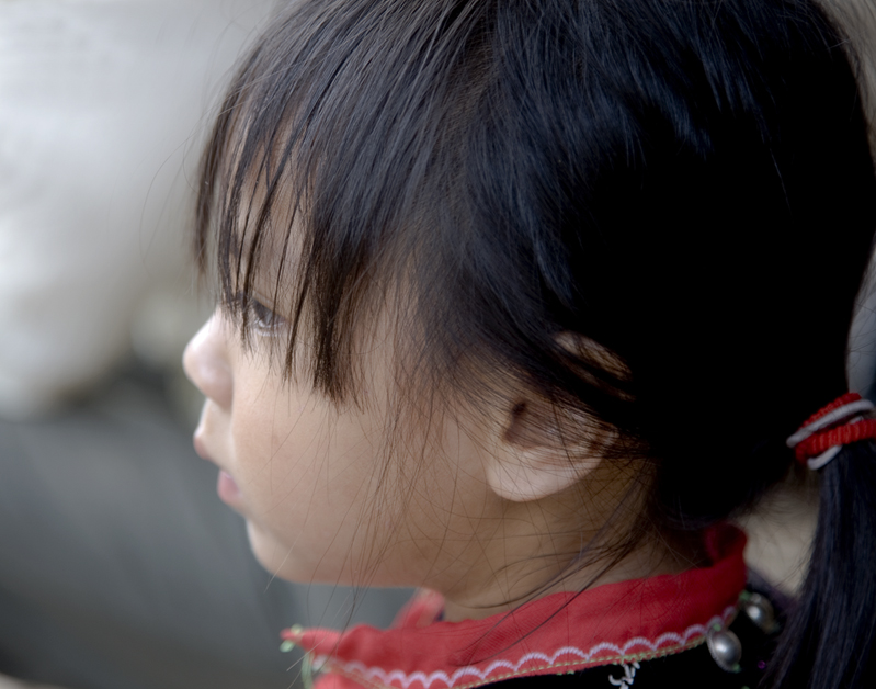
[[[212,308],[187,245],[194,170],[229,70],[275,5],[0,0],[7,676],[281,689],[298,676],[282,628],[387,624],[406,597],[273,579],[192,450],[201,399],[180,359]],[[871,395],[874,306],[862,302],[850,362]],[[787,488],[749,520],[750,558],[788,590],[811,497]]]

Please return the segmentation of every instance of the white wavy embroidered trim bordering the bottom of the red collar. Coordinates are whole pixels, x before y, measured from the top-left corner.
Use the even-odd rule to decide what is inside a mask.
[[[549,668],[554,667],[559,658],[566,656],[564,665],[568,667],[572,665],[583,665],[592,659],[598,659],[603,655],[607,656],[605,658],[606,660],[611,659],[612,656],[619,659],[624,656],[628,656],[630,653],[647,653],[648,651],[658,651],[670,644],[683,646],[692,639],[705,637],[706,633],[714,624],[724,624],[733,614],[736,614],[736,608],[730,606],[720,615],[715,615],[705,624],[692,624],[681,634],[676,634],[675,632],[667,632],[665,634],[660,634],[660,636],[653,641],[644,639],[641,636],[636,636],[635,639],[630,639],[623,646],[603,642],[592,646],[587,652],[581,651],[576,646],[564,646],[553,655],[546,655],[544,653],[537,652],[527,653],[516,663],[511,663],[509,660],[496,660],[490,663],[490,665],[488,665],[483,670],[478,669],[474,665],[469,665],[467,667],[459,668],[453,673],[453,675],[447,675],[443,670],[436,670],[434,673],[430,673],[429,675],[422,671],[411,673],[408,675],[403,670],[391,670],[387,673],[380,667],[366,667],[359,660],[343,663],[325,655],[316,657],[314,663],[327,663],[326,669],[329,671],[341,671],[344,675],[353,677],[360,676],[377,687],[397,687],[399,689],[410,689],[410,687],[419,685],[419,687],[422,689],[453,689],[453,687],[456,685],[463,684],[462,680],[474,682],[468,685],[469,687],[473,687],[478,686],[479,684],[486,684],[487,678],[497,670],[504,669],[505,675],[513,675],[526,664],[533,663],[533,660],[539,660],[541,667]],[[606,652],[610,653],[606,654]]]

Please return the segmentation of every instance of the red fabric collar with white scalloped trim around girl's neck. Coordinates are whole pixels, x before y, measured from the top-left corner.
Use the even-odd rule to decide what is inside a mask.
[[[560,592],[485,620],[436,622],[442,599],[422,592],[388,631],[293,628],[283,639],[310,654],[319,689],[470,689],[524,675],[556,675],[679,653],[736,612],[746,585],[744,534],[706,534],[712,565],[680,575]]]

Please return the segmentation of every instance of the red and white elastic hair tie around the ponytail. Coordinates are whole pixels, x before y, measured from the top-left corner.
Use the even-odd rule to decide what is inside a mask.
[[[830,462],[843,445],[858,440],[876,440],[876,419],[864,419],[874,409],[857,393],[845,393],[806,419],[787,440],[800,464],[818,470]]]

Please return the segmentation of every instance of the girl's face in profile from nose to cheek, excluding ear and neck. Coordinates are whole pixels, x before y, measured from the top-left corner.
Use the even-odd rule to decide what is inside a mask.
[[[453,452],[425,458],[422,433],[406,429],[387,462],[387,348],[367,354],[367,408],[339,408],[283,380],[264,353],[274,337],[257,328],[244,349],[217,309],[183,359],[206,396],[195,448],[218,465],[219,496],[246,518],[259,561],[306,583],[458,586],[475,562],[470,520],[499,516],[479,443],[447,423],[440,440]]]

